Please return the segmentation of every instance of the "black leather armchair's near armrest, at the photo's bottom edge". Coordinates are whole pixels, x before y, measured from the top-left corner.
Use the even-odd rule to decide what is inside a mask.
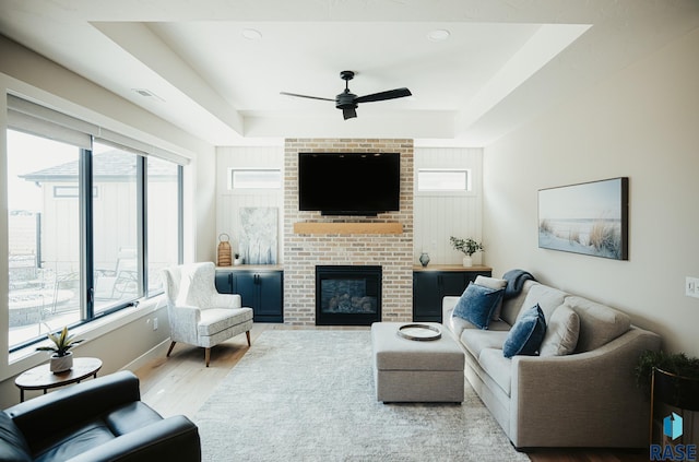
[[[177,415],[121,435],[69,462],[200,461],[199,429],[183,415]]]

